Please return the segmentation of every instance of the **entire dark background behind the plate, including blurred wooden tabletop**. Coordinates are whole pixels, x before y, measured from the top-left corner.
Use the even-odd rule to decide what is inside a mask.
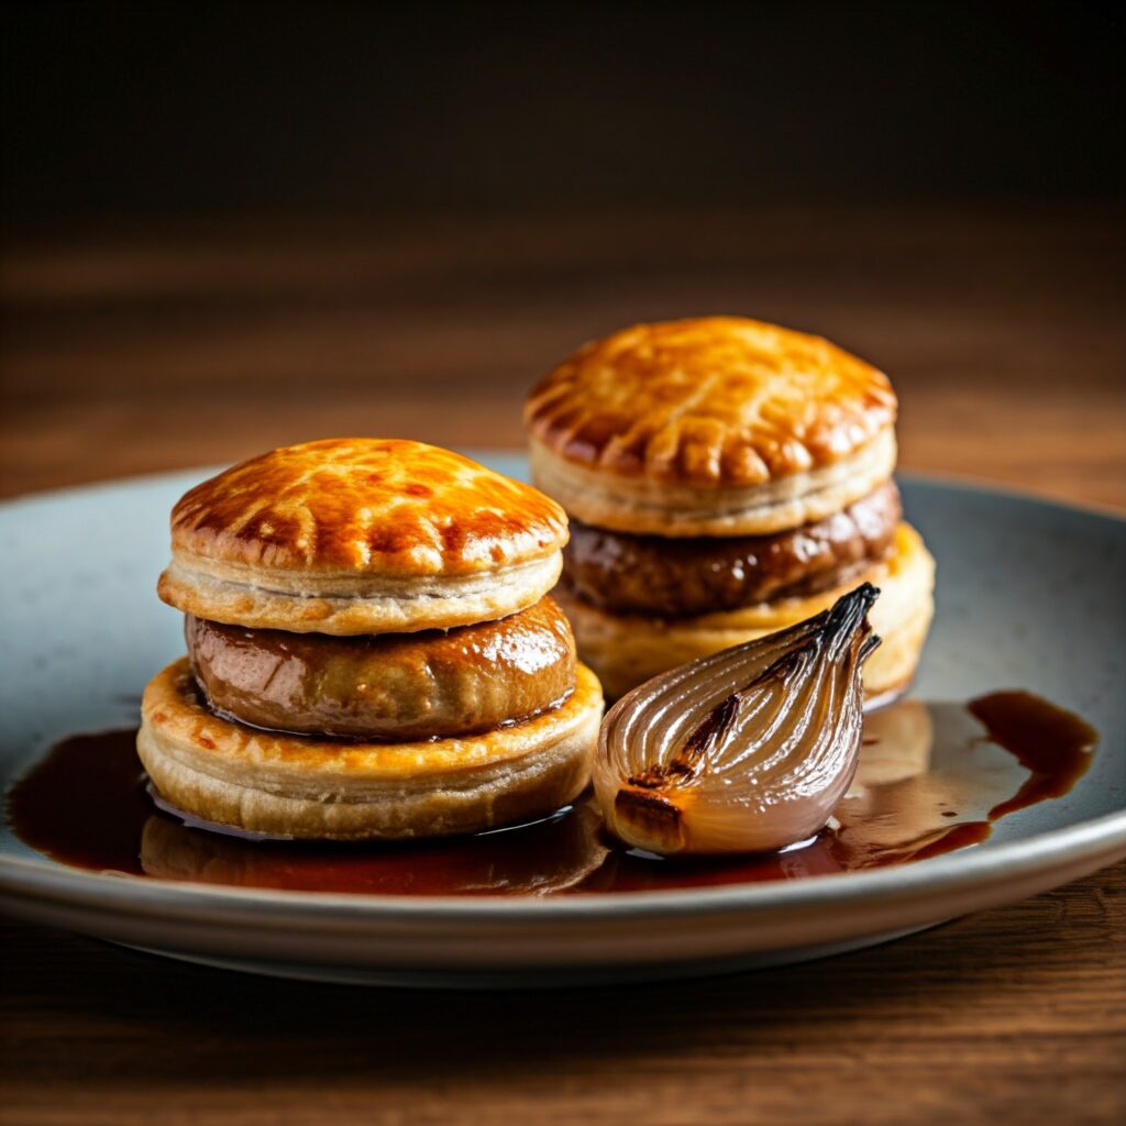
[[[1123,11],[7,3],[0,492],[516,447],[731,312],[884,367],[908,468],[1124,503]]]

